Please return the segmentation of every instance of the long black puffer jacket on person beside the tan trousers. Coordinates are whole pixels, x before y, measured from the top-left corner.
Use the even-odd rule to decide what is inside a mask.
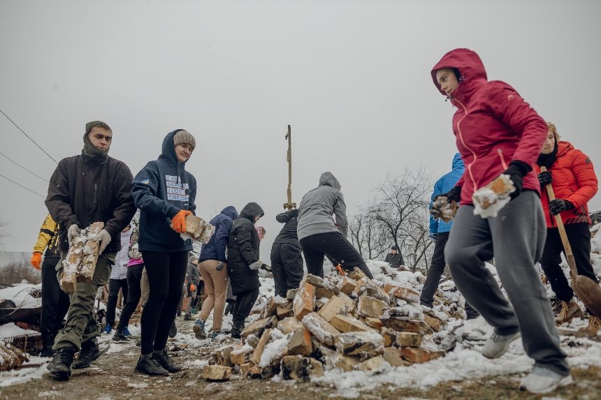
[[[254,229],[254,217],[263,216],[256,202],[249,202],[233,221],[228,239],[228,274],[234,295],[259,288],[259,272],[249,268],[259,260],[259,235]]]

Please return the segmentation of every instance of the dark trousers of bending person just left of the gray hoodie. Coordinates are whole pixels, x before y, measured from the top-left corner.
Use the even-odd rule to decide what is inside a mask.
[[[271,273],[275,295],[286,298],[286,292],[298,288],[303,279],[301,248],[289,243],[275,243],[271,248]]]

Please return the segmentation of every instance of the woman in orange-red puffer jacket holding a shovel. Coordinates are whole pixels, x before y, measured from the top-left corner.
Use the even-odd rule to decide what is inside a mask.
[[[549,133],[537,160],[536,172],[542,191],[542,208],[546,218],[546,242],[540,265],[551,288],[561,300],[561,311],[555,322],[562,324],[581,314],[574,300],[574,292],[560,267],[563,244],[553,216],[560,214],[567,239],[570,241],[579,275],[588,276],[597,282],[591,265],[591,230],[588,225],[586,203],[597,193],[597,176],[593,163],[582,151],[574,149],[569,142],[559,141],[555,125],[549,122]],[[540,167],[547,171],[541,172]],[[555,200],[549,201],[545,186],[551,184]],[[589,331],[597,334],[599,321],[591,315]],[[595,329],[596,327],[596,329]]]

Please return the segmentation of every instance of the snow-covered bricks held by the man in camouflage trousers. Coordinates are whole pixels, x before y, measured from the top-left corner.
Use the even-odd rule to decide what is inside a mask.
[[[94,222],[87,228],[80,230],[78,236],[73,238],[65,260],[61,275],[61,289],[65,292],[74,292],[78,282],[91,282],[98,260],[99,242],[94,237],[104,228],[104,223]]]

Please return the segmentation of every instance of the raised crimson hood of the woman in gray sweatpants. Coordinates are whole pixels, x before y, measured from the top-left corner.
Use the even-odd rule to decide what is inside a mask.
[[[459,70],[461,81],[455,91],[458,91],[464,86],[465,82],[488,80],[484,64],[482,64],[482,60],[476,52],[470,49],[451,50],[447,54],[444,54],[442,59],[440,59],[434,68],[432,68],[432,71],[430,71],[435,87],[440,93],[444,94],[444,96],[447,96],[447,94],[440,89],[440,84],[436,81],[436,71],[440,68],[457,68]]]

